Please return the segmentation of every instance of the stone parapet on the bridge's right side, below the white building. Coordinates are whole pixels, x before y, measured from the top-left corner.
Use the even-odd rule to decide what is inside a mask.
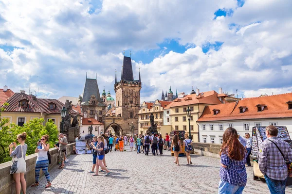
[[[201,156],[220,158],[221,144],[206,144],[193,142],[194,153]]]

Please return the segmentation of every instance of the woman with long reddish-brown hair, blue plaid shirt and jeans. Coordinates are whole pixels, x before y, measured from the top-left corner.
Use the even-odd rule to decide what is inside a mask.
[[[246,185],[246,149],[237,139],[237,130],[227,128],[220,151],[219,194],[242,194]]]

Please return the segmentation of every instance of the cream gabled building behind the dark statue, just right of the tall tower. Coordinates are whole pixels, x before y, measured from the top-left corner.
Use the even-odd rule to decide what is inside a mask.
[[[154,122],[157,125],[157,130],[161,133],[161,127],[163,126],[163,109],[169,105],[171,102],[163,100],[155,100],[154,103],[143,102],[141,109],[138,113],[138,132],[139,134],[145,134],[147,129],[150,127],[149,116],[153,113]]]

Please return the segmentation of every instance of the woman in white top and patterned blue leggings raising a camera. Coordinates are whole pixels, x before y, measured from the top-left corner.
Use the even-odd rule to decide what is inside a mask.
[[[42,169],[48,181],[46,188],[52,186],[52,183],[50,180],[50,174],[48,172],[48,167],[49,167],[48,151],[50,149],[50,144],[47,144],[48,140],[49,140],[49,135],[43,135],[40,141],[37,143],[37,148],[35,150],[35,152],[37,153],[37,162],[36,162],[36,170],[35,170],[36,182],[31,187],[38,186],[40,169]]]

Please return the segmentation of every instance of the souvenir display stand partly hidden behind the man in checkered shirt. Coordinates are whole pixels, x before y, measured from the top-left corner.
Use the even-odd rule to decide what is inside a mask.
[[[278,138],[281,138],[285,142],[287,142],[291,148],[292,148],[292,140],[290,138],[289,132],[286,127],[278,127]],[[252,152],[251,152],[251,158],[254,160],[254,180],[260,179],[263,180],[264,177],[262,177],[261,172],[258,168],[258,152],[259,152],[259,146],[267,139],[266,136],[266,127],[253,127],[253,134],[252,134]],[[292,185],[292,178],[288,177],[286,185]]]

